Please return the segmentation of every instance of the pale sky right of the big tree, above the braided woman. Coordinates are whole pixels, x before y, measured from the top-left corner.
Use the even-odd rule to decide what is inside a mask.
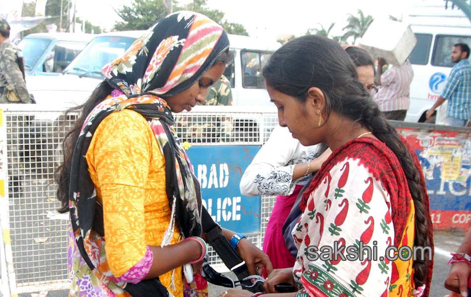
[[[333,22],[334,35],[340,35],[349,13],[357,9],[374,18],[388,18],[389,14],[407,15],[407,0],[208,0],[212,8],[226,13],[231,22],[241,23],[250,35],[303,35],[309,28],[328,28]]]

